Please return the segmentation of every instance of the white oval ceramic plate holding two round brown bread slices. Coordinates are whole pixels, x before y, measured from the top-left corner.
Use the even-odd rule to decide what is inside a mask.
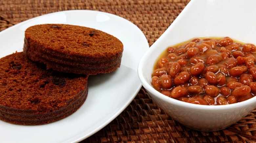
[[[119,16],[91,10],[50,13],[16,24],[0,32],[0,57],[21,52],[24,31],[35,24],[73,24],[95,28],[117,37],[124,45],[121,66],[108,74],[90,76],[85,103],[71,116],[46,125],[23,126],[0,120],[0,142],[78,142],[115,119],[135,98],[141,83],[140,58],[149,48],[140,29]]]

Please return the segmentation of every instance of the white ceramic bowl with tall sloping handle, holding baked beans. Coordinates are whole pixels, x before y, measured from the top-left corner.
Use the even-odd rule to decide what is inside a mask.
[[[256,97],[229,105],[198,105],[169,98],[151,86],[153,65],[168,47],[194,37],[230,37],[256,44],[256,1],[192,0],[142,57],[138,75],[152,99],[173,119],[200,131],[224,129],[256,107]]]

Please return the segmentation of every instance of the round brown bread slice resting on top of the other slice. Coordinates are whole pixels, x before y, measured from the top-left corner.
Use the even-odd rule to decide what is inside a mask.
[[[93,28],[40,24],[26,29],[23,52],[48,69],[95,75],[120,67],[123,44]]]

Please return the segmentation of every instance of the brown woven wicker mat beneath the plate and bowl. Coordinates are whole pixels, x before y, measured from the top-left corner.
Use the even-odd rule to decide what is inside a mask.
[[[62,10],[90,9],[121,16],[136,24],[152,45],[189,0],[0,0],[0,31],[30,18]],[[132,103],[102,130],[82,143],[252,143],[256,142],[256,110],[216,132],[188,129],[162,111],[141,88]]]

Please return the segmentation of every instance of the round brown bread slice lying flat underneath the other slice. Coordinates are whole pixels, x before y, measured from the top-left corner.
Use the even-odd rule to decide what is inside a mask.
[[[0,59],[0,119],[39,125],[63,119],[86,100],[88,75],[46,70],[23,52]]]

